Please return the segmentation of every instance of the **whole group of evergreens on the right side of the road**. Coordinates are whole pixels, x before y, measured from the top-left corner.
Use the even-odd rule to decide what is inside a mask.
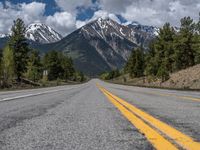
[[[179,29],[164,24],[148,50],[142,46],[134,49],[124,72],[132,78],[146,76],[165,81],[170,73],[199,64],[200,20],[184,17],[180,23]]]

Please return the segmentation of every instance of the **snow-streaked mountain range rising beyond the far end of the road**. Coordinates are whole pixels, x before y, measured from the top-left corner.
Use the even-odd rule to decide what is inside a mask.
[[[59,41],[49,43],[50,41],[41,40],[46,33],[42,32],[43,29],[51,31],[48,27],[43,24],[29,27],[28,38],[36,41],[30,42],[33,48],[40,50],[41,53],[50,50],[62,51],[73,58],[76,69],[89,76],[122,68],[135,47],[143,46],[146,49],[157,34],[157,28],[153,26],[143,26],[135,22],[122,25],[109,18],[99,18]]]

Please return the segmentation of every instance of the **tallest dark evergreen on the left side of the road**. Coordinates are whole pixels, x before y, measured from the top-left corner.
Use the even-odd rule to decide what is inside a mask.
[[[29,47],[25,38],[25,24],[21,19],[14,21],[12,26],[12,34],[9,39],[9,47],[13,50],[13,57],[15,62],[15,74],[18,81],[22,74],[26,71]]]

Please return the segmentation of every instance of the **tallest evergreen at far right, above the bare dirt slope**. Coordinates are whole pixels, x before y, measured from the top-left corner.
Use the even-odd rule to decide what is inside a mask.
[[[181,19],[181,28],[175,37],[175,70],[185,69],[195,64],[194,49],[195,24],[190,17]]]

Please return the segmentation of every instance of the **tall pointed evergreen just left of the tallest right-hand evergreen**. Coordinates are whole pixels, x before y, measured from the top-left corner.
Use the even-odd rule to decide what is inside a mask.
[[[146,75],[156,76],[164,80],[167,79],[169,73],[173,72],[174,36],[175,31],[169,23],[160,28],[159,34],[150,44],[146,56]]]

